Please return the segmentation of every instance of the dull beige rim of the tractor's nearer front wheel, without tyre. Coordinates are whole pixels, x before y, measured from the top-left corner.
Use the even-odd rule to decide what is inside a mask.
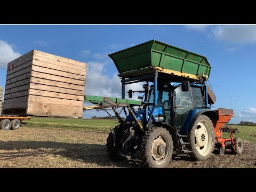
[[[151,158],[154,163],[161,165],[165,163],[170,155],[170,141],[164,134],[159,134],[152,142]]]

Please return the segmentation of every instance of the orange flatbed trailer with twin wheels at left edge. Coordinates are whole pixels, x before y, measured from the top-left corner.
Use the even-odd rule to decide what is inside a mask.
[[[4,115],[0,116],[0,129],[7,130],[18,130],[21,127],[22,121],[31,119],[26,116],[15,116],[15,115]]]

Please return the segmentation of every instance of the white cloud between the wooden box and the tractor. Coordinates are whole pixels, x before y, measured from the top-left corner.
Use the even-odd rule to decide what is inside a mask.
[[[85,94],[97,95],[113,98],[121,98],[122,83],[121,79],[114,73],[110,76],[103,74],[106,64],[101,62],[87,62],[86,81],[85,81]],[[125,86],[125,98],[128,99],[127,91],[142,90],[143,83],[129,84]],[[141,94],[135,93],[131,99],[138,100],[138,96]],[[85,103],[84,106],[91,106],[91,103]],[[117,111],[119,111],[118,109]],[[109,110],[111,115],[114,115],[113,111]],[[87,110],[83,113],[83,118],[91,118],[92,116],[108,116],[105,111]],[[122,113],[122,116],[124,114]]]

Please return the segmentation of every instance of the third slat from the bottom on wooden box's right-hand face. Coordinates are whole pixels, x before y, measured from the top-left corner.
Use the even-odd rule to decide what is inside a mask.
[[[41,85],[41,84],[37,84],[37,83],[30,83],[29,88],[30,89],[43,90],[43,91],[52,91],[52,92],[58,92],[58,93],[81,95],[81,96],[84,97],[84,91],[70,90],[70,89],[66,89],[66,88],[62,88],[62,87],[56,87],[56,86],[49,86],[49,85]]]

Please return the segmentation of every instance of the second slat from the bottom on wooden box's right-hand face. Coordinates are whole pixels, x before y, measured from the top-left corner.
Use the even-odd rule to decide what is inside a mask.
[[[35,96],[35,95],[28,95],[28,102],[42,102],[42,103],[50,103],[50,104],[58,103],[58,105],[77,106],[77,107],[83,107],[83,104],[84,104],[83,101],[49,98],[49,97]]]

